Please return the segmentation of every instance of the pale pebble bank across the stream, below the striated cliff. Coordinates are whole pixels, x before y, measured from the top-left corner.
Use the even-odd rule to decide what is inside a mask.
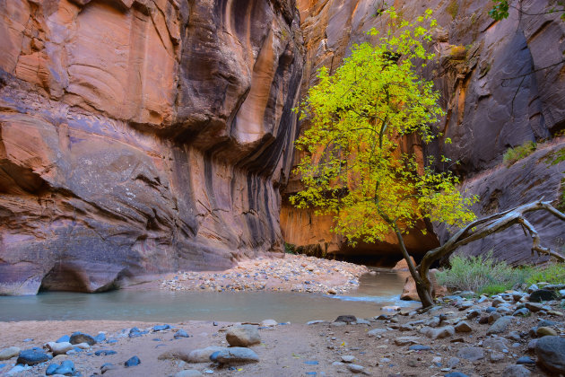
[[[240,261],[238,266],[217,272],[178,271],[166,276],[161,289],[213,292],[308,292],[344,294],[359,286],[369,268],[338,260],[284,254],[281,259]]]

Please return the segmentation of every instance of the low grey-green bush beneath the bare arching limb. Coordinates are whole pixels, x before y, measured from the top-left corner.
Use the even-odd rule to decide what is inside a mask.
[[[512,268],[493,259],[492,251],[478,257],[456,255],[449,262],[450,268],[436,274],[439,284],[483,294],[500,293],[521,285],[531,273],[530,268]]]

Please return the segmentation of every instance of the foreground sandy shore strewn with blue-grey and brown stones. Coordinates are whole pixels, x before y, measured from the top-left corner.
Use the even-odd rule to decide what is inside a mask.
[[[306,324],[3,322],[2,338],[12,339],[12,344],[0,342],[0,375],[565,373],[565,285],[531,286],[525,291],[492,297],[463,292],[440,299],[423,313],[389,308],[390,314],[369,319],[343,315],[332,322],[312,319]],[[111,325],[106,332],[85,334],[87,329],[95,334],[93,329],[104,325]],[[125,327],[118,329],[120,325]],[[63,329],[84,332],[65,336]],[[43,338],[13,341],[30,331],[41,332]]]

